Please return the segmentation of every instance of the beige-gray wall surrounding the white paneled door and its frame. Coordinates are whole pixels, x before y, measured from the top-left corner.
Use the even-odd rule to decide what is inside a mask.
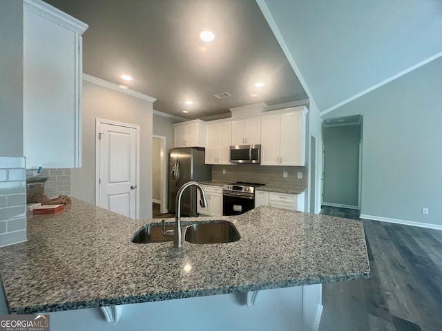
[[[95,119],[140,126],[140,218],[152,217],[152,103],[83,81],[82,168],[71,172],[73,197],[95,204]]]

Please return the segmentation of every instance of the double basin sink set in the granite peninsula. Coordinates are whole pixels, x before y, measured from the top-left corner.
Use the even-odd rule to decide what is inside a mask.
[[[173,224],[166,225],[166,230],[173,230]],[[196,244],[231,243],[240,240],[240,234],[235,225],[224,220],[184,225],[182,233],[184,241]],[[163,243],[165,241],[173,241],[173,237],[163,236],[161,224],[144,225],[132,239],[133,243]]]

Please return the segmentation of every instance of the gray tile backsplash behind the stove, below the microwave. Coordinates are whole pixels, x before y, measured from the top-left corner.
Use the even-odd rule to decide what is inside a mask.
[[[225,169],[226,173],[222,174]],[[287,178],[282,176],[287,172]],[[302,179],[298,179],[298,172]],[[307,167],[289,167],[279,165],[238,164],[212,165],[213,181],[247,181],[283,188],[307,188]]]

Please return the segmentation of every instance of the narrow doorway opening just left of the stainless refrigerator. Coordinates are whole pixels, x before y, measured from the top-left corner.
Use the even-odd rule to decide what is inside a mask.
[[[166,137],[154,135],[152,139],[152,203],[159,204],[161,214],[169,212],[166,174]]]

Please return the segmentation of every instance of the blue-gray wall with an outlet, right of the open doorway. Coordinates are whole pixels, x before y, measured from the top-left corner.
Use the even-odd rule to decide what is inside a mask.
[[[364,116],[362,214],[442,225],[441,77],[439,58],[325,115]]]

